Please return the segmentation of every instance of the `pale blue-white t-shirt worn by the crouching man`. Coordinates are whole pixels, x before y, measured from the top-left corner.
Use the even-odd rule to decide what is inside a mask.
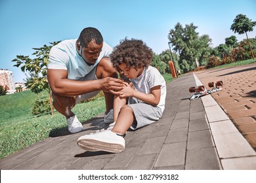
[[[49,54],[48,69],[64,69],[68,71],[68,79],[78,80],[87,75],[98,64],[103,57],[109,57],[113,48],[103,42],[102,51],[94,65],[87,65],[83,58],[76,51],[75,42],[77,39],[62,41],[53,48]]]

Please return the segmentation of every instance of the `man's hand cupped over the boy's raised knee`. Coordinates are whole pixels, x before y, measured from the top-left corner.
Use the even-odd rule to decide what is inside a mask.
[[[102,78],[102,80],[102,90],[104,92],[110,92],[114,95],[119,95],[119,92],[123,89],[123,80],[121,79],[106,77]]]

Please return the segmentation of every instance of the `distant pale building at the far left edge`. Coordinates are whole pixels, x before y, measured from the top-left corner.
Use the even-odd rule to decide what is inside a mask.
[[[7,94],[15,92],[12,71],[0,69],[0,84],[7,90]]]

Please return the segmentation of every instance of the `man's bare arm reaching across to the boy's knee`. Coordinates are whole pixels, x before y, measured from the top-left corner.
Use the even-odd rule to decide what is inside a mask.
[[[111,77],[88,81],[70,80],[68,71],[63,69],[48,69],[47,78],[53,93],[62,96],[77,96],[97,90],[118,94],[114,91],[121,90],[123,86],[121,80]]]

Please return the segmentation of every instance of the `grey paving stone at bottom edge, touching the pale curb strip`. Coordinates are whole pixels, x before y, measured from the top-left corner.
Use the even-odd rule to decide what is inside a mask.
[[[216,149],[200,148],[186,152],[186,170],[219,170],[221,163],[217,156]]]

